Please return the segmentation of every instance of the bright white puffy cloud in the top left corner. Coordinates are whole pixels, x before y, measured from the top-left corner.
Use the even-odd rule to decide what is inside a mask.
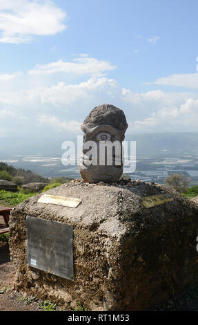
[[[66,28],[66,12],[50,0],[0,0],[0,42],[26,43],[34,35],[55,35]]]

